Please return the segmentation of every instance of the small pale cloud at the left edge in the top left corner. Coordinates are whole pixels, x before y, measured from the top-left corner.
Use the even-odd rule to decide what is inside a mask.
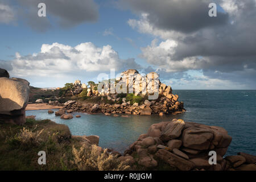
[[[0,23],[10,23],[15,19],[14,10],[8,5],[0,3]]]

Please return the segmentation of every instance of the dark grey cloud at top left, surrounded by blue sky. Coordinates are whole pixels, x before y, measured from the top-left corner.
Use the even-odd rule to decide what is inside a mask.
[[[46,4],[46,18],[38,16],[38,4]],[[93,0],[18,0],[18,12],[34,30],[44,32],[57,25],[72,27],[98,19],[98,6]],[[49,21],[53,19],[53,23]]]

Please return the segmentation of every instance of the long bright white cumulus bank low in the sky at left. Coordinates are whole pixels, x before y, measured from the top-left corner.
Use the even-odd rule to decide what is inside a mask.
[[[0,61],[0,65],[3,68],[9,66],[12,68],[11,75],[18,77],[55,77],[85,72],[109,72],[111,68],[116,71],[128,67],[140,68],[134,59],[120,59],[111,46],[96,47],[90,42],[75,47],[59,43],[43,44],[38,53],[26,56],[16,53],[14,60]]]

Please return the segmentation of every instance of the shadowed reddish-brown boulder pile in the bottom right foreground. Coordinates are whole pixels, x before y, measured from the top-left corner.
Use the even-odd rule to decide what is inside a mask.
[[[137,162],[145,168],[165,164],[181,171],[256,170],[256,156],[238,153],[223,158],[231,141],[232,137],[222,127],[173,119],[151,125],[121,160]],[[216,164],[209,163],[210,151],[216,152]]]

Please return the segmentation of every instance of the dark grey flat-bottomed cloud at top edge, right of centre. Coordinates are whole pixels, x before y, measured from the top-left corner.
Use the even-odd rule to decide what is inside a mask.
[[[136,13],[148,13],[148,21],[163,30],[193,32],[205,27],[221,26],[228,22],[228,14],[208,15],[208,0],[130,0],[121,1]]]

